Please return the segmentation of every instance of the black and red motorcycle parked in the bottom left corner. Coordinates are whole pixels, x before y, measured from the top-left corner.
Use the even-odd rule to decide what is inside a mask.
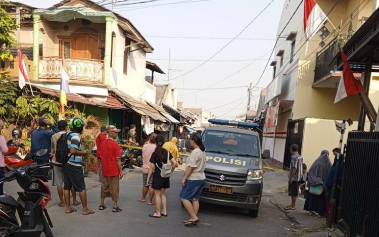
[[[46,210],[52,198],[50,188],[44,177],[35,175],[38,170],[45,168],[50,168],[49,163],[20,166],[0,179],[0,183],[17,180],[24,189],[24,192],[18,192],[17,201],[12,196],[0,197],[1,237],[38,237],[42,232],[46,237],[54,237],[51,230],[53,223]],[[16,210],[21,223],[17,220]]]

